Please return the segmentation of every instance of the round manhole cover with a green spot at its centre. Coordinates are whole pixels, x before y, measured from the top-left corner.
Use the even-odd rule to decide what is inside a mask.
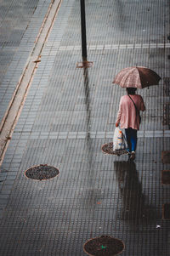
[[[100,236],[89,239],[83,247],[90,256],[114,256],[122,253],[124,243],[111,236]]]

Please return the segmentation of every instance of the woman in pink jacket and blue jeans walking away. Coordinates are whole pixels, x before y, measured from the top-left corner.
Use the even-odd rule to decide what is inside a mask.
[[[135,94],[137,88],[127,88],[127,95],[122,96],[119,104],[119,111],[116,117],[116,127],[119,123],[125,129],[127,146],[130,158],[135,159],[137,145],[137,131],[139,130],[139,111],[145,111],[144,100]]]

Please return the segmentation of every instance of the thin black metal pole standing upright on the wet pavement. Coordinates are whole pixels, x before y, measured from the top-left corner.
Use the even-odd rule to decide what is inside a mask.
[[[82,61],[87,61],[87,42],[86,42],[86,14],[85,0],[80,0],[81,4],[81,26],[82,26]]]

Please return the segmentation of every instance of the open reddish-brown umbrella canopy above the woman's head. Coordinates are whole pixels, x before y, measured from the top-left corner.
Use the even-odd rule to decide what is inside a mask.
[[[120,85],[122,88],[145,88],[156,85],[160,81],[155,71],[144,66],[131,66],[120,71],[113,83]]]

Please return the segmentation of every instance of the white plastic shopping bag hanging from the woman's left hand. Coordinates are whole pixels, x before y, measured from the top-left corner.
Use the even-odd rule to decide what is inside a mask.
[[[115,133],[113,136],[113,151],[116,150],[124,150],[125,149],[125,141],[122,130],[118,127],[115,128]]]

